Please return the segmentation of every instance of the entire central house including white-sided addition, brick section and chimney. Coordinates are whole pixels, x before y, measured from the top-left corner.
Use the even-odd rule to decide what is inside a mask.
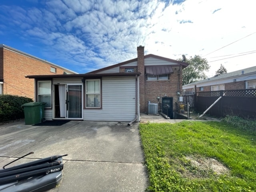
[[[144,56],[143,46],[137,52],[137,58],[86,74],[26,77],[35,79],[35,100],[48,98],[46,120],[140,121],[149,102],[164,102],[173,114],[182,91],[182,68],[188,64]]]

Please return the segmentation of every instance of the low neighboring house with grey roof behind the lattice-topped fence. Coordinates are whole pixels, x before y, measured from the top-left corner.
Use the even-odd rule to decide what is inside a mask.
[[[200,91],[240,90],[256,88],[256,66],[216,75],[182,86],[183,94]]]

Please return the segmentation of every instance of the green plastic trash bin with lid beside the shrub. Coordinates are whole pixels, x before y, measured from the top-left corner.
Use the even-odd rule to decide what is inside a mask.
[[[29,102],[22,105],[24,108],[25,125],[34,125],[42,122],[45,104],[45,102]]]

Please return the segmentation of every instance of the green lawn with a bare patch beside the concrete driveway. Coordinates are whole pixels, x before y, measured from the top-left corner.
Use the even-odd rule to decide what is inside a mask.
[[[226,122],[140,124],[150,192],[256,191],[256,135]]]

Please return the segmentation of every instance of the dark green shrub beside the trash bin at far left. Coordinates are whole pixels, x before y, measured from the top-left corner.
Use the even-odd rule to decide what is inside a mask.
[[[0,122],[24,118],[22,104],[33,102],[31,98],[0,95]]]

